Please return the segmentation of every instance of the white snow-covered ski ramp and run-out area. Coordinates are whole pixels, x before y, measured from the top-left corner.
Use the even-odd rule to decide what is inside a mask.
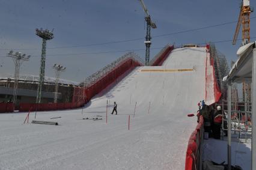
[[[175,68],[194,70],[141,71]],[[197,125],[187,114],[205,96],[205,68],[204,47],[175,49],[163,66],[137,67],[94,97],[83,114],[37,112],[36,120],[59,126],[23,124],[27,113],[1,114],[0,169],[184,169],[187,141]],[[115,101],[118,111],[108,114],[108,123],[107,100],[109,110]]]

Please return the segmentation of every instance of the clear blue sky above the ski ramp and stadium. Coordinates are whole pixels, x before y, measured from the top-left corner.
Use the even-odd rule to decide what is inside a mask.
[[[167,43],[175,43],[178,46],[186,43],[233,39],[236,23],[183,34],[155,38],[154,36],[236,21],[240,10],[239,0],[144,0],[144,2],[151,19],[157,25],[157,29],[151,29],[153,37],[151,58],[160,50],[153,48],[163,47]],[[255,4],[251,1],[251,6],[255,7]],[[251,17],[254,16],[252,13]],[[144,38],[146,32],[144,11],[138,0],[0,0],[0,21],[0,64],[2,65],[0,73],[11,74],[14,73],[14,64],[11,58],[6,57],[7,49],[20,49],[20,52],[31,55],[30,61],[22,64],[20,74],[38,74],[41,39],[35,35],[35,28],[50,30],[54,28],[55,38],[47,41],[49,48]],[[256,37],[255,22],[256,19],[251,19],[251,37]],[[240,43],[241,41],[237,41],[236,46],[231,42],[216,43],[216,47],[230,61],[237,59],[236,50]],[[141,58],[145,58],[144,40],[47,49],[46,76],[54,77],[52,65],[58,63],[67,67],[66,72],[61,74],[62,78],[81,82],[84,77],[125,53],[97,52],[118,50],[135,50]]]

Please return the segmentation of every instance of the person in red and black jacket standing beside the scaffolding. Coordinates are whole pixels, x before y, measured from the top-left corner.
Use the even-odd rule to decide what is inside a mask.
[[[213,138],[221,139],[221,124],[222,124],[222,110],[221,106],[217,106],[217,110],[215,110],[212,114],[213,116]]]

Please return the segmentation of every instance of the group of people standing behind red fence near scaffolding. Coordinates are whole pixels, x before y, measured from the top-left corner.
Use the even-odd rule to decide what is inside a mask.
[[[200,115],[204,117],[204,132],[208,132],[210,138],[221,139],[222,119],[226,118],[221,106],[217,106],[216,108],[212,105],[207,106],[204,100],[202,100],[202,102],[200,101],[198,103],[198,107],[198,121]],[[227,121],[224,121],[224,129],[227,129]],[[224,130],[224,135],[228,135],[227,130]]]

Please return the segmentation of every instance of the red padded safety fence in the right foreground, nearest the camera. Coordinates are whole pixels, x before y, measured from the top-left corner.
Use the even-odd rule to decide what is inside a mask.
[[[190,135],[187,144],[185,170],[200,169],[202,161],[202,144],[204,132],[204,118],[201,115],[196,129]]]

